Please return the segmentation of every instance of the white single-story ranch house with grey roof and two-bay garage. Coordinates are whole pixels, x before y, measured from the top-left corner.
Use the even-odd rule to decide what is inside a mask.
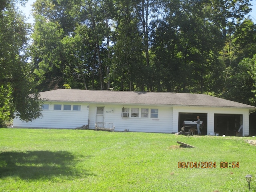
[[[185,119],[204,122],[202,134],[249,135],[249,114],[256,107],[206,94],[58,89],[40,93],[43,116],[13,121],[14,128],[68,128],[99,123],[115,131],[176,133]]]

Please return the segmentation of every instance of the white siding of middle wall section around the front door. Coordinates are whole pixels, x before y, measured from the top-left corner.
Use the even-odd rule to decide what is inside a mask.
[[[124,106],[129,108],[129,117],[122,117],[123,106],[122,105],[105,105],[104,122],[113,123],[115,131],[124,131],[128,129],[132,132],[159,132],[159,133],[171,133],[172,132],[172,107],[170,106],[157,106],[159,116],[158,118],[142,118],[141,110],[148,109],[150,112],[150,106]],[[139,109],[139,117],[132,117],[132,108]],[[96,116],[96,104],[90,104],[89,119],[90,129],[94,129]],[[149,114],[150,116],[150,114]],[[161,117],[161,118],[159,118]]]

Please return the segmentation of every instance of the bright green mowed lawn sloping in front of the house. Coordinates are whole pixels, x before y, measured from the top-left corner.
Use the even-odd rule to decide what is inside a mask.
[[[254,138],[0,129],[0,191],[244,192],[256,188]],[[176,141],[196,148],[181,148]],[[216,168],[178,168],[178,162]],[[220,168],[239,162],[239,168]],[[230,166],[230,165],[228,165]],[[251,191],[252,191],[251,190]]]

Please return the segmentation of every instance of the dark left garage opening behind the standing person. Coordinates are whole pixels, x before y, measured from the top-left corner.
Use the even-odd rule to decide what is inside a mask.
[[[202,135],[207,135],[207,113],[179,113],[179,129],[183,126],[184,120],[197,120],[197,116],[200,117],[200,120],[204,123],[203,128],[200,130]]]

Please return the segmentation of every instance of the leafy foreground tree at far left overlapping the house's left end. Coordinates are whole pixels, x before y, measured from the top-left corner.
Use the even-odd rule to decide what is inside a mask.
[[[0,126],[14,112],[25,121],[41,114],[32,68],[26,62],[30,27],[15,5],[14,0],[0,3]]]

